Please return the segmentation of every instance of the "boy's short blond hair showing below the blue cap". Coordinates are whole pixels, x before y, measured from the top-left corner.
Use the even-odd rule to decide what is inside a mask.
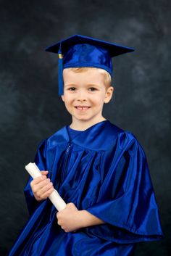
[[[106,70],[103,70],[102,68],[98,68],[98,67],[70,67],[68,69],[70,69],[71,71],[73,71],[75,73],[83,73],[83,72],[86,72],[88,70],[92,70],[92,69],[95,69],[95,68],[99,73],[101,73],[101,75],[104,75],[105,86],[107,86],[107,88],[109,86],[112,86],[111,75]]]

